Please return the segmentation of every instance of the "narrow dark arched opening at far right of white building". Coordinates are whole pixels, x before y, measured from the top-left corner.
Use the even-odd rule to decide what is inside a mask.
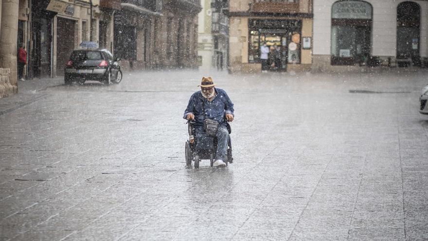
[[[419,38],[421,7],[416,2],[405,1],[397,6],[397,64],[420,65]]]

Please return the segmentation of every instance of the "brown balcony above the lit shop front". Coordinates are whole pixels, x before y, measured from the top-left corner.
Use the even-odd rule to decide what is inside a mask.
[[[299,0],[253,0],[251,12],[298,13]]]

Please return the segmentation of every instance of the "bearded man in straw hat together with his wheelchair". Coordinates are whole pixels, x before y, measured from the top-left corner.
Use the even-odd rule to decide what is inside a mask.
[[[228,123],[233,121],[233,103],[224,90],[214,88],[211,77],[202,77],[199,86],[201,90],[192,94],[183,116],[189,130],[186,164],[191,166],[194,161],[198,168],[202,159],[210,159],[211,167],[226,167],[233,161]]]

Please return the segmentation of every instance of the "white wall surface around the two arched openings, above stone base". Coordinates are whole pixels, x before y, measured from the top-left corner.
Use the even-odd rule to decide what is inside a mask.
[[[373,6],[372,55],[395,56],[397,6],[406,0],[366,0]],[[336,0],[314,0],[314,55],[330,55],[331,7]],[[428,56],[428,2],[413,0],[421,6],[420,54]]]

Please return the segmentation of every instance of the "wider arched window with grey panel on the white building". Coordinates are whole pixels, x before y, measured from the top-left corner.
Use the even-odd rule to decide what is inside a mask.
[[[365,63],[371,53],[372,5],[359,0],[337,1],[331,16],[331,64]]]

